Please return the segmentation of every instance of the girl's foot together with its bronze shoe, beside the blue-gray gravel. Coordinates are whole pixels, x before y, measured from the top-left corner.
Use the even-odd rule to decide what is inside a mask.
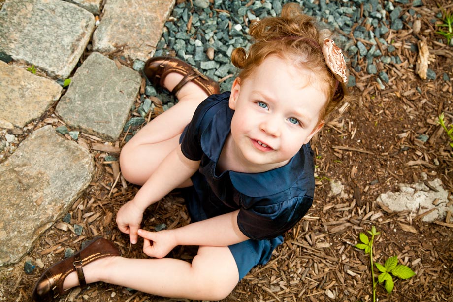
[[[219,84],[216,81],[176,58],[151,58],[146,61],[143,70],[154,85],[161,85],[174,95],[178,94],[183,87],[194,90],[195,93],[197,90],[203,91],[207,96],[220,92]],[[181,76],[178,76],[178,74]],[[178,98],[180,98],[179,95]]]

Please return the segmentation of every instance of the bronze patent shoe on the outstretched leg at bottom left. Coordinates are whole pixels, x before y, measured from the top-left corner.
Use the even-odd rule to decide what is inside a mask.
[[[97,259],[108,256],[120,256],[120,251],[107,239],[96,238],[90,241],[78,253],[47,269],[36,283],[33,299],[36,302],[48,302],[65,294],[63,282],[67,275],[76,271],[80,287],[87,286],[82,267]]]

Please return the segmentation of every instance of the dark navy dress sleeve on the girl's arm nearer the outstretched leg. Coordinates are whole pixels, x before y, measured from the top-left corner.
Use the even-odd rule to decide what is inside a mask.
[[[237,224],[251,239],[272,239],[290,230],[307,213],[313,203],[310,196],[294,197],[272,205],[241,208]]]

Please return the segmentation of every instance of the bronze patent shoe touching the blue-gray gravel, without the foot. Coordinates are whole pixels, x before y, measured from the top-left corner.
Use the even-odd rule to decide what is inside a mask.
[[[182,74],[183,79],[173,88],[171,93],[176,95],[178,91],[188,82],[192,81],[203,89],[208,96],[218,94],[220,92],[219,84],[213,79],[202,74],[189,64],[172,57],[154,57],[146,61],[143,69],[146,77],[154,84],[163,86],[165,77],[176,72]]]

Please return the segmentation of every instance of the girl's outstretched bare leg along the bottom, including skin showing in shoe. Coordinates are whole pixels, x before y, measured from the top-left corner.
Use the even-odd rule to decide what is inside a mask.
[[[87,283],[103,281],[172,298],[221,300],[236,286],[239,272],[228,247],[201,246],[192,264],[177,259],[109,257],[83,268]],[[78,285],[76,272],[64,288]]]

